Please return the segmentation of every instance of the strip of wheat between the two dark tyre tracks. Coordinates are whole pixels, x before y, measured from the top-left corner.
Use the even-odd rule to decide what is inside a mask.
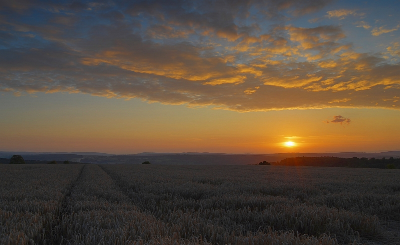
[[[86,165],[66,204],[69,212],[63,214],[60,239],[53,244],[147,243],[150,240],[159,244],[157,239],[164,241],[170,230],[130,202],[99,165]]]

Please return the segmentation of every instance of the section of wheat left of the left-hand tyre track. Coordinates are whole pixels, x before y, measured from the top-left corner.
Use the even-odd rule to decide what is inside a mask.
[[[45,244],[83,165],[0,165],[0,244]]]

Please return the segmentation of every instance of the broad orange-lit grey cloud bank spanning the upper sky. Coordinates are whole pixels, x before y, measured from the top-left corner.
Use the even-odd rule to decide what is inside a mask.
[[[240,112],[399,109],[398,61],[357,52],[340,25],[288,22],[328,3],[2,1],[0,91],[86,93]],[[331,10],[328,18],[355,13]],[[398,56],[396,47],[386,55]]]

